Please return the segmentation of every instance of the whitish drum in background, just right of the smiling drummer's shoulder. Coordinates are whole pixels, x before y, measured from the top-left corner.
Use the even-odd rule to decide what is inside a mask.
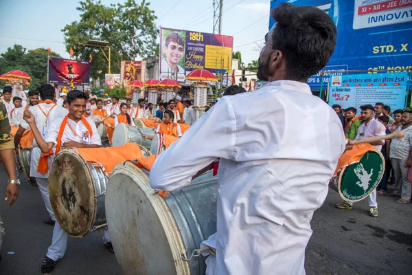
[[[126,143],[136,143],[150,149],[151,140],[141,137],[141,133],[153,136],[156,129],[153,127],[137,128],[135,126],[126,125],[124,123],[117,124],[115,132],[113,133],[112,145],[122,146]]]

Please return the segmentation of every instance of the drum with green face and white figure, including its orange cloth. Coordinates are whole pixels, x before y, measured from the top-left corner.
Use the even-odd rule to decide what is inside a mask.
[[[361,201],[378,186],[384,171],[380,151],[370,144],[356,144],[339,158],[329,186],[345,201]]]

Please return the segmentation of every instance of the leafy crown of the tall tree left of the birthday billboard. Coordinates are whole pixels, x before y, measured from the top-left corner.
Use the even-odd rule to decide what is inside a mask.
[[[155,11],[150,10],[149,5],[146,0],[140,4],[135,0],[126,0],[124,4],[117,5],[103,5],[100,0],[80,1],[77,8],[80,20],[62,29],[67,52],[72,47],[76,57],[87,61],[92,54],[91,76],[94,79],[104,78],[108,72],[108,62],[98,47],[81,45],[89,39],[108,41],[111,47],[111,74],[119,74],[120,61],[152,56],[156,51],[159,31],[155,25]],[[107,56],[107,49],[102,49]]]

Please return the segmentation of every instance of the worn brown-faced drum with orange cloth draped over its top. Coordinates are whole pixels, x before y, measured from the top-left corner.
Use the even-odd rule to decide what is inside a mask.
[[[67,234],[81,238],[106,227],[108,175],[116,164],[138,157],[142,157],[141,147],[133,143],[116,148],[68,148],[56,155],[49,172],[50,203]]]

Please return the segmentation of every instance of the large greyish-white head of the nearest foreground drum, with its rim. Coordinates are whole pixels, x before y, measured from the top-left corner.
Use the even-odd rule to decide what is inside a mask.
[[[133,203],[130,203],[133,201]],[[165,201],[133,164],[119,164],[106,189],[106,219],[123,274],[190,274],[185,251]]]

